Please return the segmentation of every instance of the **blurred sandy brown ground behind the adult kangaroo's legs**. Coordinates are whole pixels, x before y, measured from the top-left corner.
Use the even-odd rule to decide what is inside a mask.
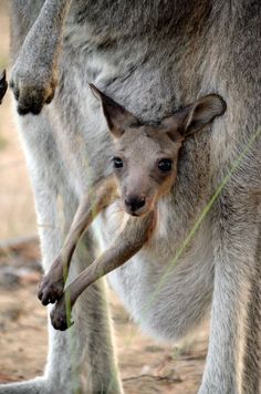
[[[0,70],[8,68],[7,1],[0,2]],[[43,372],[46,310],[36,299],[41,276],[33,198],[19,142],[11,94],[0,106],[0,382]],[[3,241],[4,240],[4,241]],[[207,350],[207,328],[181,345],[163,345],[143,335],[109,290],[116,344],[127,394],[196,393]]]

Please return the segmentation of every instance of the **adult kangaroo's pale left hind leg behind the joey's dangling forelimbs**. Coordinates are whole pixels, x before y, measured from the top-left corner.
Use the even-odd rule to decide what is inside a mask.
[[[62,191],[65,195],[63,205],[67,227],[75,212],[76,201],[73,201],[71,191],[63,185],[59,153],[46,116],[29,115],[21,118],[21,123],[35,195],[43,267],[48,270],[61,248],[58,194]],[[92,246],[90,238],[88,245]],[[86,247],[86,239],[75,255],[73,267],[77,272],[94,259],[92,248]],[[49,324],[50,352],[44,376],[24,383],[1,385],[0,393],[122,392],[103,282],[90,287],[79,300],[74,312],[74,328],[66,333],[58,332]]]

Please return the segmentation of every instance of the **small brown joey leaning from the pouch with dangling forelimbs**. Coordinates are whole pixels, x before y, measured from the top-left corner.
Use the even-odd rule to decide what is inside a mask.
[[[90,86],[101,100],[113,136],[114,174],[94,185],[92,193],[84,196],[64,246],[40,284],[39,299],[44,305],[58,301],[51,313],[52,324],[58,330],[66,330],[71,324],[66,304],[71,310],[91,283],[122,266],[149,240],[157,226],[157,201],[174,187],[184,141],[226,111],[225,101],[210,94],[164,118],[160,124],[148,125],[94,85]],[[64,291],[70,261],[80,237],[93,219],[115,201],[121,205],[124,228],[112,247]]]

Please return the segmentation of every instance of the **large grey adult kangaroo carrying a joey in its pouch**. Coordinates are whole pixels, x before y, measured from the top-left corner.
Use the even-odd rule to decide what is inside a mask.
[[[249,142],[261,123],[260,20],[258,0],[11,1],[11,86],[25,115],[19,124],[44,270],[59,255],[62,221],[66,230],[80,198],[112,172],[107,125],[90,82],[145,123],[202,94],[216,92],[227,102],[211,133],[186,142],[149,251],[109,273],[130,314],[156,338],[187,334],[211,308],[200,394],[259,392],[261,143]],[[243,149],[246,157],[170,270]],[[93,260],[94,237],[105,249],[117,234],[117,206],[97,220],[74,256],[71,278]],[[81,296],[67,332],[50,326],[44,377],[1,386],[0,393],[123,391],[103,287],[101,281]]]

